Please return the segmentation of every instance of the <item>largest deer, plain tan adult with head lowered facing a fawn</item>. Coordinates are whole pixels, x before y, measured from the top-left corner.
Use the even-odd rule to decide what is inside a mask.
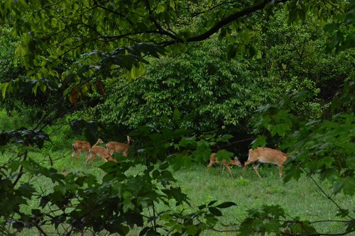
[[[280,179],[283,178],[283,163],[285,163],[288,155],[275,149],[271,149],[268,147],[258,147],[256,150],[249,150],[249,158],[244,163],[244,173],[243,176],[245,177],[246,166],[258,161],[258,163],[253,167],[254,172],[258,175],[260,179],[261,176],[258,173],[258,167],[261,163],[272,163],[278,165],[278,170],[280,174]]]

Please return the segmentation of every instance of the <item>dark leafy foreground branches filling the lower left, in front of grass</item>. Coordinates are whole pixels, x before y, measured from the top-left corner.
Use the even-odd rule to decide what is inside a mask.
[[[176,116],[175,120],[178,122],[180,119]],[[144,208],[154,208],[154,204],[158,202],[167,206],[190,206],[187,196],[175,184],[176,180],[169,167],[189,167],[193,161],[209,157],[209,145],[214,143],[212,137],[209,143],[195,140],[194,137],[187,143],[185,136],[190,133],[191,131],[184,129],[165,129],[162,133],[151,133],[144,127],[138,129],[131,135],[146,137],[146,142],[140,150],[141,154],[135,159],[126,159],[117,164],[103,164],[100,168],[106,174],[102,181],[98,181],[97,176],[84,173],[61,174],[57,169],[44,167],[33,159],[28,159],[29,150],[26,150],[20,162],[18,158],[13,158],[9,159],[8,164],[1,166],[0,186],[5,194],[2,203],[12,201],[2,211],[1,225],[11,221],[18,232],[26,227],[37,227],[43,232],[42,226],[50,223],[58,234],[64,228],[65,234],[107,230],[126,235],[132,227],[152,223],[152,227],[143,228],[142,235],[148,232],[159,234],[160,230],[174,232],[175,235],[198,235],[218,222],[217,218],[222,216],[220,208],[229,208],[235,206],[235,203],[216,204],[216,201],[213,201],[186,215],[174,210],[156,212],[148,220],[145,220],[143,215]],[[36,142],[38,137],[31,140]],[[9,141],[11,140],[6,143]],[[185,152],[175,155],[171,154],[173,150]],[[182,155],[184,153],[185,156]],[[190,159],[190,162],[178,162],[181,158]],[[143,172],[126,174],[127,170],[141,164],[146,166]],[[32,184],[21,183],[16,186],[17,181],[7,179],[5,173],[10,169],[16,171],[18,168],[21,168],[21,175],[26,172],[50,180],[52,190],[43,192],[34,189]],[[6,195],[10,193],[11,196]],[[31,213],[23,212],[19,204],[27,204],[35,196],[39,199],[38,205],[31,209]],[[4,232],[8,232],[7,230],[9,229],[4,227]]]

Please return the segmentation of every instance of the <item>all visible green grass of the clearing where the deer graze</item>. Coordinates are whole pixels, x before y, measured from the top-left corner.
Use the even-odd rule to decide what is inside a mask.
[[[104,172],[98,168],[103,163],[102,159],[95,159],[94,167],[91,167],[90,164],[84,164],[84,154],[79,162],[76,157],[71,159],[70,154],[70,148],[56,152],[48,150],[48,152],[44,152],[44,156],[43,154],[35,154],[35,159],[45,159],[41,164],[49,167],[48,157],[50,156],[54,160],[53,167],[62,173],[85,172],[99,178],[104,176]],[[334,215],[336,215],[337,207],[320,193],[311,179],[302,176],[299,181],[290,181],[284,184],[278,177],[278,168],[275,165],[263,164],[258,170],[263,176],[262,180],[258,179],[252,167],[247,168],[246,179],[241,177],[243,169],[234,167],[232,172],[235,179],[231,179],[228,172],[222,173],[220,169],[211,168],[207,173],[206,166],[202,164],[196,164],[190,169],[182,169],[175,172],[174,176],[178,180],[176,185],[180,186],[190,198],[191,210],[212,200],[218,200],[221,203],[224,201],[237,203],[237,206],[222,210],[221,223],[226,225],[238,225],[246,217],[246,210],[258,208],[263,204],[278,204],[285,209],[287,215],[299,216],[301,219],[310,221],[336,219]],[[130,174],[136,174],[138,171],[141,169],[137,167],[137,169],[130,170]],[[287,168],[285,168],[285,172],[287,172]],[[30,181],[43,192],[51,191],[52,184],[48,179],[31,176]],[[327,193],[331,192],[327,182],[322,183],[322,188]],[[354,198],[343,194],[338,194],[333,198],[342,208],[354,209]],[[38,202],[33,200],[28,206],[23,206],[23,210],[29,211],[31,208],[37,208],[37,204]],[[158,211],[167,209],[167,206],[162,204],[158,204],[156,207]],[[342,232],[344,229],[344,226],[339,223],[318,223],[315,227],[324,233]],[[218,230],[236,230],[235,227],[222,225],[217,225],[216,228]],[[35,229],[25,231],[23,235],[38,233]],[[139,229],[133,230],[130,235],[138,235],[138,232]],[[236,232],[221,234],[208,230],[203,235],[236,235]]]

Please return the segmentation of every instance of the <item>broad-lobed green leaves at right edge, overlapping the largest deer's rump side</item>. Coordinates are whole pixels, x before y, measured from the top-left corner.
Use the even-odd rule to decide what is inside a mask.
[[[344,84],[344,94],[339,94],[339,97],[347,97],[345,94],[353,86],[353,82]],[[332,194],[343,191],[346,195],[354,196],[354,104],[344,108],[336,104],[342,99],[335,99],[335,108],[332,110],[334,115],[329,120],[297,119],[290,108],[293,107],[294,101],[302,103],[304,99],[307,99],[307,93],[304,92],[286,94],[280,103],[260,109],[256,118],[256,133],[268,130],[268,136],[273,139],[278,136],[285,137],[282,147],[288,150],[288,162],[293,165],[288,168],[284,181],[299,179],[302,173],[315,181],[312,176],[317,174],[320,181],[332,183]],[[340,107],[340,110],[337,109]],[[285,123],[284,120],[288,122]],[[265,144],[266,136],[259,136],[253,145]],[[316,181],[315,184],[320,188]],[[321,188],[320,191],[332,201],[332,194]],[[338,215],[347,219],[346,224],[353,225],[354,218],[349,210],[334,204],[339,208]],[[292,228],[297,233],[315,233],[315,229],[307,222],[297,223]],[[346,232],[352,232],[351,226],[346,228]]]

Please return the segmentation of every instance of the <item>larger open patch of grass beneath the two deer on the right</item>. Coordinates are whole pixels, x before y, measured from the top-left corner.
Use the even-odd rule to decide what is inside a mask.
[[[177,172],[175,174],[178,183],[191,199],[192,206],[207,203],[213,199],[219,201],[234,201],[236,207],[223,210],[223,223],[238,223],[247,215],[246,210],[258,208],[263,204],[278,204],[283,207],[286,214],[300,216],[301,219],[334,220],[337,207],[324,198],[317,186],[307,177],[299,181],[290,181],[286,184],[278,177],[278,168],[264,165],[259,168],[263,179],[249,167],[246,171],[246,179],[241,176],[243,170],[234,168],[234,176],[231,179],[224,172],[210,172],[207,174],[203,166]],[[326,183],[322,187],[330,193]],[[348,198],[342,194],[334,196],[334,200],[343,208],[354,208],[354,198]],[[339,223],[320,223],[316,225],[321,232],[342,232]],[[223,227],[219,227],[223,230]],[[204,235],[215,235],[214,232],[206,232]]]

